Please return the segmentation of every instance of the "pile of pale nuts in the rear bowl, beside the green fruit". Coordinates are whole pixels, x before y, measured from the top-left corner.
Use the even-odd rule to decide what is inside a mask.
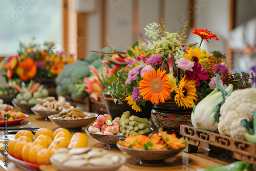
[[[38,102],[34,109],[35,111],[62,111],[70,109],[70,102],[66,101],[63,96],[58,96],[58,100],[55,97],[47,97],[45,99],[36,98]]]

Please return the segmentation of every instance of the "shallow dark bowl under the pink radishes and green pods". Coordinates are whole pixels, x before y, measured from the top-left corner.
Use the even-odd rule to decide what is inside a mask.
[[[102,142],[104,144],[109,144],[110,147],[116,147],[116,143],[117,141],[121,138],[121,139],[125,139],[125,135],[100,135],[100,134],[95,134],[95,133],[90,133],[88,131],[89,127],[86,128],[86,133],[92,137],[93,139]],[[152,133],[153,128],[151,127],[151,132]],[[144,135],[148,135],[150,133],[144,134]]]

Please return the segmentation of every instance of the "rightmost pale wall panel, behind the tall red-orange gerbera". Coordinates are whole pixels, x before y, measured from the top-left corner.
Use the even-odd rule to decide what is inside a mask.
[[[213,41],[213,45],[211,45],[212,39],[209,40],[209,43],[204,40],[201,47],[207,52],[219,50],[222,53],[226,53],[226,40],[229,33],[229,1],[197,0],[195,3],[200,8],[197,10],[194,27],[208,29],[211,33],[217,34],[219,38],[219,41]],[[193,30],[190,30],[190,33],[191,31]],[[187,41],[201,41],[199,36],[190,33]]]

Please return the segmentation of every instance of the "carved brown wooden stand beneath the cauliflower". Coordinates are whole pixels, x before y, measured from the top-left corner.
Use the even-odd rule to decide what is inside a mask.
[[[181,125],[180,135],[185,137],[187,146],[183,150],[186,153],[196,153],[198,147],[203,147],[221,153],[223,159],[233,156],[238,160],[256,164],[256,145],[217,133],[196,129],[193,126]]]

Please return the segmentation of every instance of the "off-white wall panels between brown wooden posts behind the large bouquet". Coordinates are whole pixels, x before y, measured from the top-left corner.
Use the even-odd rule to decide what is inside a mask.
[[[106,0],[103,0],[106,1]],[[100,9],[100,2],[98,9]],[[133,45],[132,32],[132,0],[110,0],[106,1],[106,36],[111,40],[113,46],[120,50],[126,50]],[[138,0],[138,39],[144,36],[144,27],[149,23],[160,23],[159,9],[164,10],[164,24],[168,32],[182,32],[185,22],[194,18],[196,28],[208,29],[218,35],[219,41],[214,45],[204,41],[202,47],[208,52],[220,50],[226,52],[226,39],[229,30],[229,1],[228,0],[196,0],[194,7],[188,7],[189,0],[165,0],[164,6],[159,7],[159,0]],[[101,26],[100,10],[88,15],[88,47],[87,50],[100,48]],[[187,30],[187,39],[184,42],[200,42],[200,37],[192,35]],[[211,42],[211,41],[210,41]],[[210,46],[210,47],[209,47]]]

